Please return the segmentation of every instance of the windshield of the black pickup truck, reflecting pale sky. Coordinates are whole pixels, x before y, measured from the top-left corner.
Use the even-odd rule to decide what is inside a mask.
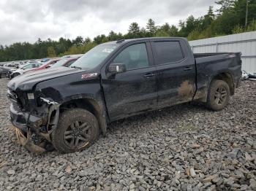
[[[98,66],[105,58],[108,57],[110,52],[116,49],[118,44],[101,44],[93,49],[86,52],[81,58],[75,63],[72,63],[70,67],[78,67],[82,69],[94,69]]]

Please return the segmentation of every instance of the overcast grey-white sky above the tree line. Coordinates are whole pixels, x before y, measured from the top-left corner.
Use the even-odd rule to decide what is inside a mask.
[[[178,25],[206,14],[214,0],[0,0],[0,44],[127,33],[130,23]]]

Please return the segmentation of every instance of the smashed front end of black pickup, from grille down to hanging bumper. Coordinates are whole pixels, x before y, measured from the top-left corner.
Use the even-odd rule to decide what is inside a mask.
[[[18,142],[30,152],[41,154],[52,147],[50,133],[59,120],[60,104],[51,98],[8,90],[10,117]],[[37,103],[35,103],[37,101]]]

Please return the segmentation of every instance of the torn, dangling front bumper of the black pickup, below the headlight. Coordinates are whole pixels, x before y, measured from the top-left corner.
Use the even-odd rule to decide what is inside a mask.
[[[10,106],[12,125],[15,126],[18,142],[30,152],[41,154],[45,152],[45,144],[50,142],[50,133],[56,128],[59,120],[59,104],[44,98],[45,113],[21,112],[13,104]],[[32,137],[40,138],[35,144]]]

